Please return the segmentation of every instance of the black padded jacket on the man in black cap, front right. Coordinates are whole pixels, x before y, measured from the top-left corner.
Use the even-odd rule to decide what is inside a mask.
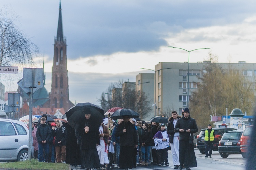
[[[180,129],[184,129],[184,132],[180,132]],[[190,132],[186,132],[188,129],[190,129]],[[191,140],[193,142],[193,134],[198,131],[196,120],[191,118],[190,115],[187,118],[183,115],[182,118],[178,119],[174,131],[180,133],[179,140]]]

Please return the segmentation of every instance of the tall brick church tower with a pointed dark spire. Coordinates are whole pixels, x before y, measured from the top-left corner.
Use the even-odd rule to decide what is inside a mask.
[[[63,37],[61,3],[59,4],[59,20],[57,37],[54,38],[54,56],[52,67],[52,86],[50,106],[64,108],[65,112],[74,104],[69,101],[67,44]]]

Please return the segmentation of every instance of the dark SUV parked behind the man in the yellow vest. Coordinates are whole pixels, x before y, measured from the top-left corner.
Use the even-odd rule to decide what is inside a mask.
[[[218,151],[219,141],[222,138],[222,135],[225,132],[237,130],[235,128],[212,128],[215,132],[215,137],[213,141],[213,151]],[[205,142],[204,142],[204,131],[207,130],[207,128],[202,129],[199,135],[197,135],[197,144],[196,147],[199,149],[201,154],[205,154]]]

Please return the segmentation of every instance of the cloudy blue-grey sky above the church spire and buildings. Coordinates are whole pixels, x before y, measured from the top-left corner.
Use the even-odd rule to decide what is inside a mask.
[[[16,13],[17,27],[39,47],[37,67],[44,54],[50,92],[59,0],[1,0],[1,5]],[[222,63],[256,63],[255,6],[252,0],[62,0],[70,100],[98,104],[111,83],[152,73],[141,67],[188,61],[186,51],[168,46],[211,48],[191,52],[190,62],[206,60],[211,52]]]

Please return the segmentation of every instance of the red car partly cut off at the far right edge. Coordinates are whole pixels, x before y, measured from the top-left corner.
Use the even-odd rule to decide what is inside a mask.
[[[249,143],[250,143],[250,139],[249,136],[252,132],[253,126],[247,126],[240,138],[240,143],[241,143],[241,152],[242,152],[242,156],[244,158],[246,158],[247,156],[247,148],[249,147]]]

